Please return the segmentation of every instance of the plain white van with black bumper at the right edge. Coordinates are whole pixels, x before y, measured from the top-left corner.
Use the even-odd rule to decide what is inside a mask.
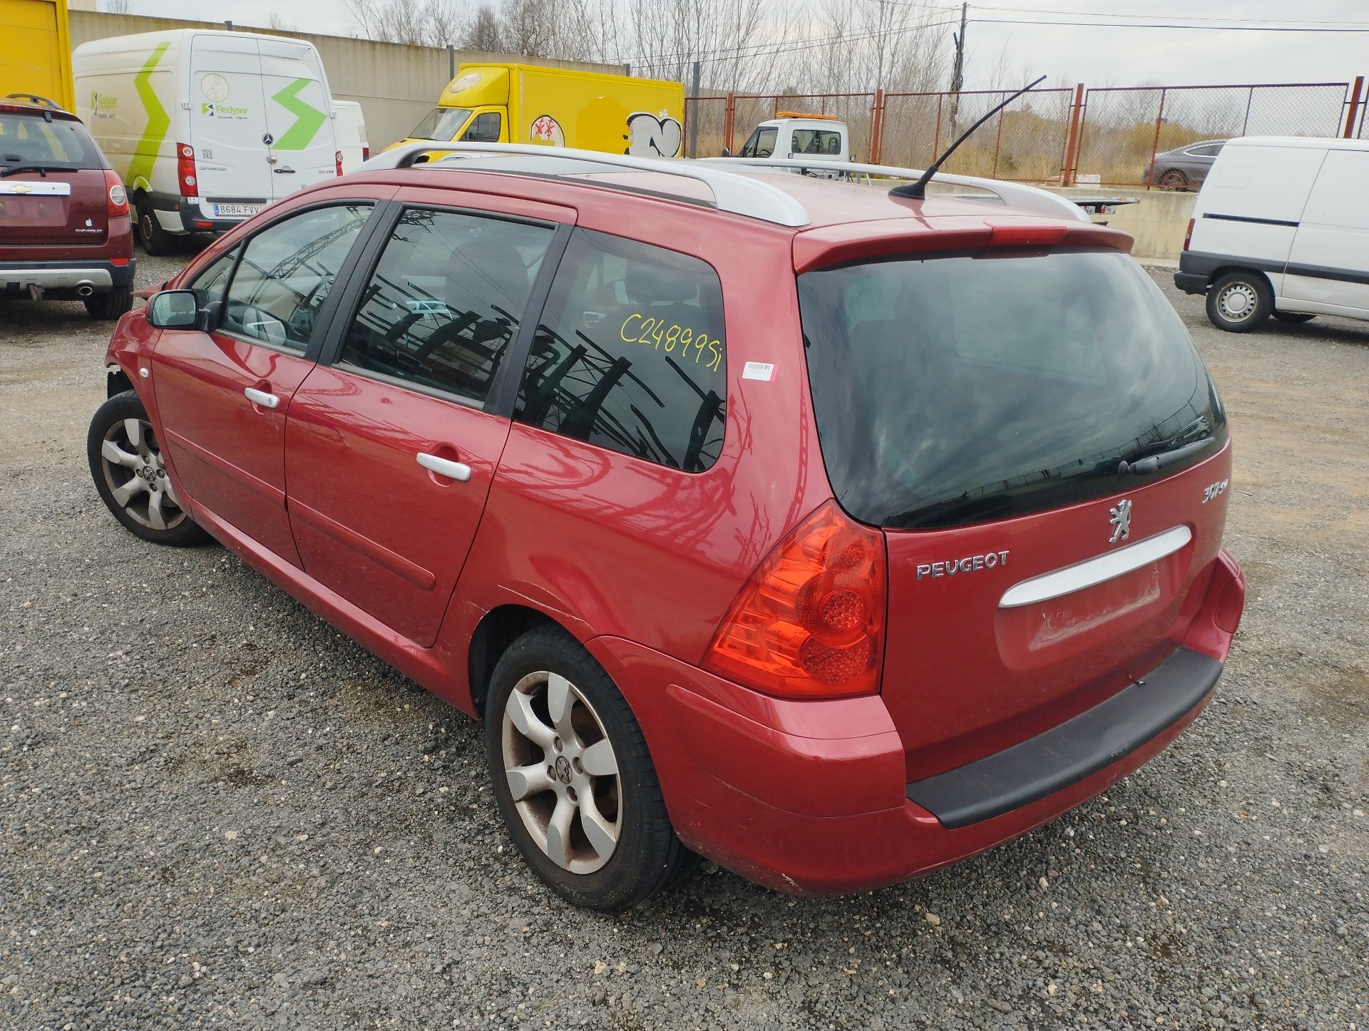
[[[1243,137],[1198,193],[1175,285],[1218,329],[1369,319],[1369,140]]]

